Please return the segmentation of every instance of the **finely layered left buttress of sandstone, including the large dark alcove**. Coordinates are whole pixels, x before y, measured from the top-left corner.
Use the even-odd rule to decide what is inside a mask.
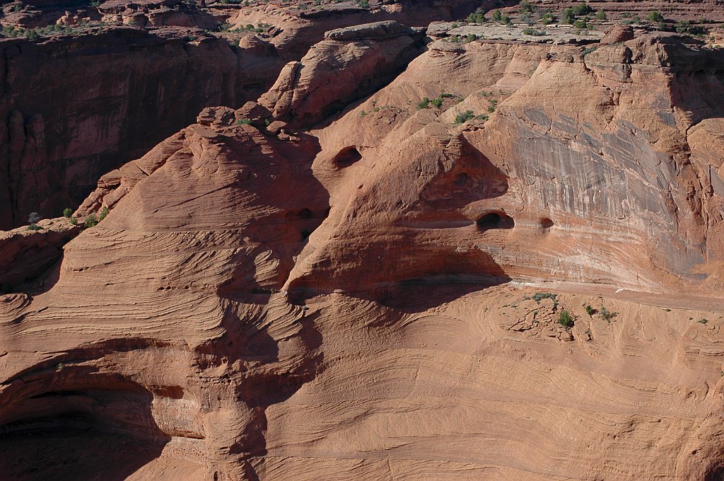
[[[235,125],[230,109],[202,119],[132,164],[120,200],[103,196],[111,214],[66,246],[46,297],[2,298],[3,472],[32,479],[35,453],[76,461],[43,464],[39,477],[128,476],[161,456],[172,466],[156,467],[165,477],[188,469],[186,479],[251,479],[246,459],[264,451],[265,406],[313,372],[311,318],[270,293],[329,206],[311,175],[318,146]],[[82,306],[72,300],[79,282]],[[35,310],[43,298],[46,309]],[[78,324],[92,312],[106,319],[93,323],[100,330]],[[30,325],[46,334],[25,343]],[[30,354],[51,345],[56,355]],[[67,443],[74,432],[81,442]],[[114,436],[107,450],[93,448]]]

